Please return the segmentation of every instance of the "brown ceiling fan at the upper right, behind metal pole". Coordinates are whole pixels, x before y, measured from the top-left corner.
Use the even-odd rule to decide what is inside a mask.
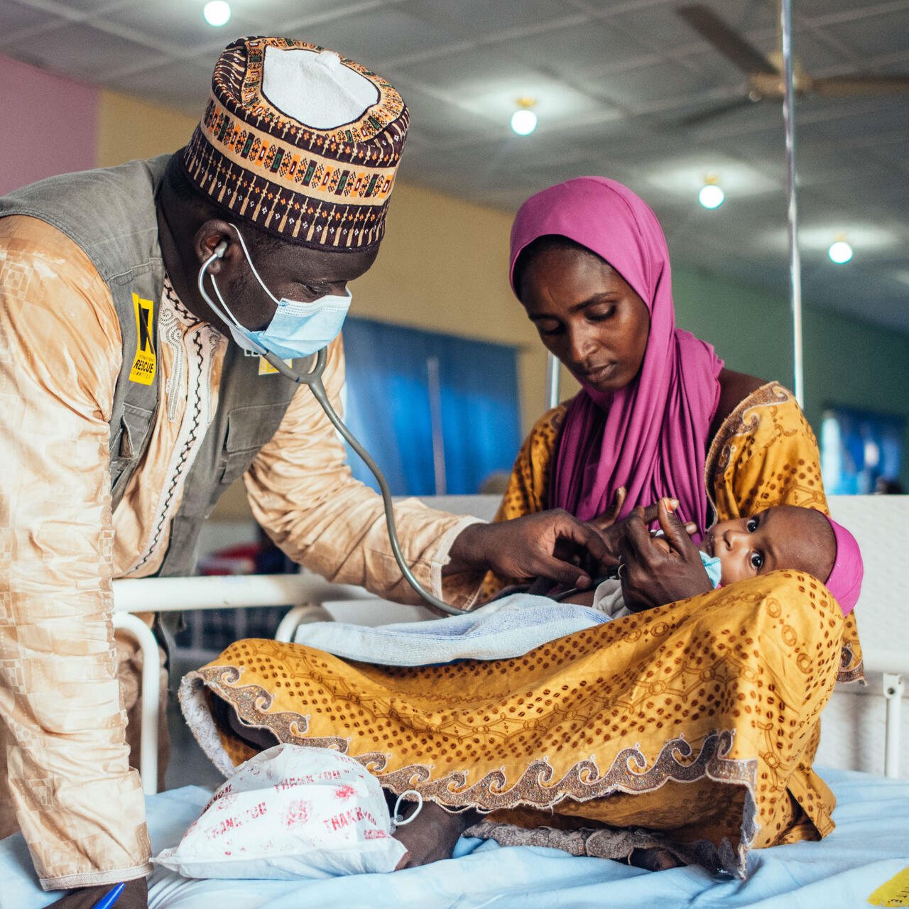
[[[741,98],[693,114],[681,121],[693,126],[714,116],[761,101],[781,101],[785,94],[783,81],[782,35],[773,53],[764,55],[748,44],[742,35],[726,25],[714,11],[703,4],[679,6],[676,13],[710,44],[738,66],[747,76],[747,92]],[[909,75],[837,75],[813,79],[798,60],[793,62],[793,85],[797,95],[846,97],[850,95],[884,95],[909,92]]]

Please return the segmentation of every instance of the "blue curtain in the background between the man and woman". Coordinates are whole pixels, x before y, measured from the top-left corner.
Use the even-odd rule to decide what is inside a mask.
[[[371,319],[344,328],[346,423],[373,455],[395,495],[435,493],[427,361],[439,364],[448,494],[475,493],[510,471],[521,443],[517,350]],[[377,488],[348,450],[357,479]]]

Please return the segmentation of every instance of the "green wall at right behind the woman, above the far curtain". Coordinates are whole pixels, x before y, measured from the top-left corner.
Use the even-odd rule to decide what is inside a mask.
[[[709,341],[730,369],[793,386],[792,315],[783,297],[705,272],[673,269],[676,325]],[[909,335],[805,305],[804,412],[824,407],[903,416],[900,480],[909,489]]]

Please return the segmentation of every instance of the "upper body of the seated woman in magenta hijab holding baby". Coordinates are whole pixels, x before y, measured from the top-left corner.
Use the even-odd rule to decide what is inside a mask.
[[[705,467],[721,428],[725,438],[730,415],[749,403],[782,407],[804,441],[799,456],[817,461],[792,395],[724,368],[711,345],[675,326],[663,230],[627,187],[584,176],[532,196],[514,219],[510,265],[515,295],[581,391],[534,427],[499,519],[545,508],[584,521],[624,518],[668,496],[699,542],[715,518],[712,498],[726,512],[746,504],[727,488],[710,488]],[[782,485],[779,493],[747,506],[823,505],[819,475],[807,494]],[[710,589],[684,534],[672,553],[648,548],[627,570],[630,593],[652,605]]]

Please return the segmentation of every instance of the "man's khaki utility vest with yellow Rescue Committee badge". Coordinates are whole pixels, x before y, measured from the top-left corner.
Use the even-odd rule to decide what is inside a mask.
[[[29,215],[55,226],[85,250],[110,288],[123,335],[110,419],[112,509],[142,461],[161,406],[157,329],[165,265],[155,197],[169,159],[50,177],[0,198],[0,217]],[[52,363],[57,358],[47,355]],[[307,371],[310,360],[293,365]],[[259,375],[259,363],[227,345],[217,411],[185,478],[159,576],[193,573],[202,522],[284,418],[297,385],[276,373]]]

